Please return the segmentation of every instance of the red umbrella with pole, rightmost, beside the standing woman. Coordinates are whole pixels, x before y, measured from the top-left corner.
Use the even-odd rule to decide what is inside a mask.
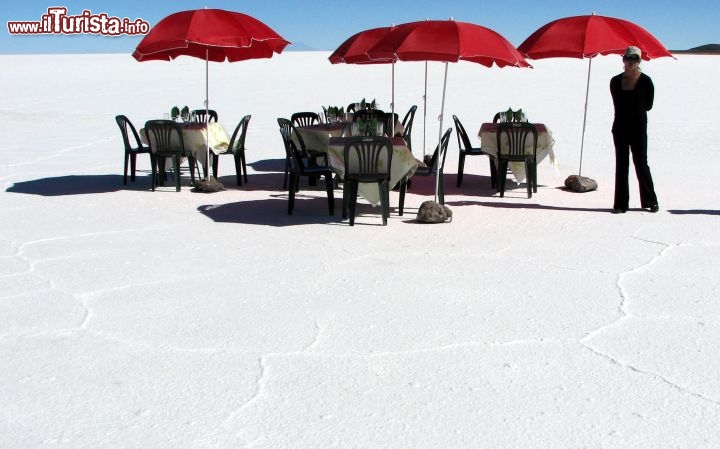
[[[590,58],[588,61],[588,80],[585,91],[585,113],[580,141],[580,169],[582,171],[582,152],[585,143],[585,123],[587,119],[587,101],[590,92],[590,68],[592,58],[597,55],[621,55],[625,49],[634,45],[640,48],[646,61],[670,56],[672,54],[652,34],[639,25],[614,17],[585,16],[565,17],[540,27],[520,44],[518,50],[529,58]]]

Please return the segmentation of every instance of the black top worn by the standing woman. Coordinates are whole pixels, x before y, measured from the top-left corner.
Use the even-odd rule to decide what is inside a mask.
[[[610,94],[615,106],[612,132],[647,132],[647,111],[652,109],[655,86],[649,76],[641,73],[634,89],[623,90],[622,77],[621,73],[610,79]]]

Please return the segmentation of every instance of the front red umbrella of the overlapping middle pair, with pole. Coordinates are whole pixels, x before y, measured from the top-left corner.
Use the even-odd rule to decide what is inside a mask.
[[[498,67],[530,67],[523,55],[497,32],[480,25],[454,20],[424,20],[398,25],[367,53],[372,59],[397,58],[401,61],[445,63],[438,148],[441,148],[443,133],[448,62],[470,61],[487,67],[493,64]],[[436,176],[436,199],[437,191]]]

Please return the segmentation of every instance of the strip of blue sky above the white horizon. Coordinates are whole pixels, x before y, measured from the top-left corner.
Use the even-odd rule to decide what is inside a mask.
[[[17,53],[131,53],[140,37],[101,35],[11,35],[8,21],[39,21],[51,6],[83,10],[111,17],[143,19],[154,25],[164,16],[187,9],[221,8],[252,15],[270,25],[299,49],[334,50],[348,36],[366,28],[423,19],[453,19],[492,28],[519,45],[541,25],[564,16],[597,14],[620,17],[650,31],[671,50],[720,43],[717,19],[720,2],[678,0],[253,0],[154,2],[150,0],[65,1],[42,3],[14,0],[0,10],[0,54]],[[292,49],[292,47],[288,47]]]

